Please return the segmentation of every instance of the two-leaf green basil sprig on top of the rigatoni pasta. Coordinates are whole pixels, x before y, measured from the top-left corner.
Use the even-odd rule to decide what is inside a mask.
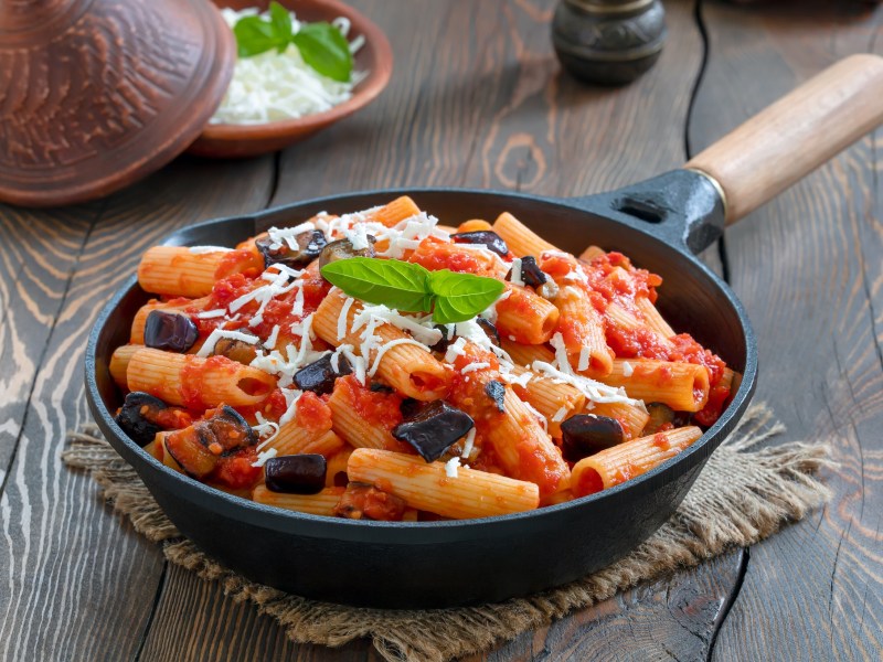
[[[491,306],[506,286],[448,269],[429,271],[397,259],[351,257],[322,267],[322,277],[350,297],[396,310],[430,312],[439,324],[465,322]]]

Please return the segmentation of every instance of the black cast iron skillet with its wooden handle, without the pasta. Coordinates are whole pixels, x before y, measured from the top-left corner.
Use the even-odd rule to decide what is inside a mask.
[[[757,350],[745,312],[694,254],[720,236],[725,222],[777,194],[883,120],[876,107],[881,98],[883,60],[857,56],[688,163],[696,170],[668,172],[611,193],[552,200],[455,189],[372,191],[212,221],[167,239],[173,245],[234,245],[322,210],[350,212],[407,193],[448,225],[509,211],[567,250],[579,253],[597,244],[624,252],[636,265],[663,277],[659,307],[672,327],[715,350],[743,378],[728,408],[699,441],[617,488],[523,514],[386,523],[291,513],[203,485],[155,460],[113,419],[120,393],[108,361],[113,350],[128,341],[132,317],[148,299],[135,278],[104,308],[89,337],[89,406],[107,439],[180,531],[227,567],[262,584],[353,605],[426,608],[497,601],[573,580],[625,555],[672,514],[754,392]],[[849,120],[839,121],[842,116]],[[808,124],[808,135],[825,143],[820,149],[805,140]],[[746,160],[747,148],[753,156]],[[746,182],[758,171],[763,190]]]

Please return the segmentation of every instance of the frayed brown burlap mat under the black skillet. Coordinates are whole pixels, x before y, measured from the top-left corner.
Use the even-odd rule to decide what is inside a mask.
[[[70,435],[63,453],[85,469],[114,509],[136,531],[162,544],[166,557],[205,580],[221,581],[235,600],[251,600],[301,643],[342,645],[371,638],[390,661],[443,661],[485,651],[547,624],[570,611],[607,599],[678,567],[698,565],[727,547],[752,545],[787,522],[802,519],[830,496],[813,476],[831,466],[823,444],[758,445],[784,431],[763,405],[712,455],[681,506],[652,537],[616,564],[567,586],[497,605],[427,611],[360,609],[317,602],[260,586],[220,566],[183,538],[135,471],[96,428]]]

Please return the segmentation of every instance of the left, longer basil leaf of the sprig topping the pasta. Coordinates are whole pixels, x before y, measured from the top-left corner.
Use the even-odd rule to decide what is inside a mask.
[[[397,259],[351,257],[322,267],[322,277],[345,295],[396,310],[429,312],[429,271]]]

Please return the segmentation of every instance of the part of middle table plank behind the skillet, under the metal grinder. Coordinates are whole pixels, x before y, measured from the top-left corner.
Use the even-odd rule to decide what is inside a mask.
[[[392,82],[364,111],[283,153],[275,203],[407,185],[584,195],[685,161],[702,61],[689,1],[666,3],[657,66],[615,89],[561,72],[553,0],[353,4],[390,36]]]

